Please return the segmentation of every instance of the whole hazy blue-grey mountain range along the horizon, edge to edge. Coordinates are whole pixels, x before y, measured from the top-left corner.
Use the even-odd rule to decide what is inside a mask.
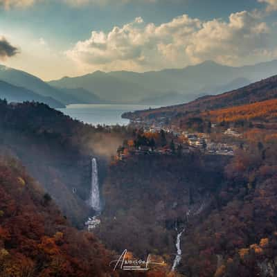
[[[241,67],[206,61],[184,69],[145,73],[96,71],[44,82],[24,71],[0,65],[0,80],[17,87],[21,95],[6,93],[0,96],[19,102],[39,100],[51,107],[100,103],[176,105],[200,96],[238,89],[276,73],[277,60]]]

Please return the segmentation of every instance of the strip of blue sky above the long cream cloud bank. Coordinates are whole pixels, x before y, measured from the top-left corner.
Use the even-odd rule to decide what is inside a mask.
[[[153,3],[84,5],[78,8],[60,1],[37,3],[26,9],[0,10],[0,24],[5,28],[25,28],[40,33],[60,44],[85,39],[91,30],[108,31],[122,26],[136,17],[146,22],[162,24],[179,15],[188,14],[199,19],[227,18],[231,12],[264,6],[253,0],[172,0]]]

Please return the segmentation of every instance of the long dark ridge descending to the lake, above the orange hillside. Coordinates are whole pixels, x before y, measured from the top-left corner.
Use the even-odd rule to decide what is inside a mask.
[[[161,107],[159,109],[149,109],[145,111],[135,111],[134,113],[123,114],[124,118],[158,118],[159,116],[169,116],[170,118],[186,114],[188,111],[214,110],[224,107],[251,104],[277,98],[277,75],[274,75],[260,82],[249,84],[246,87],[235,89],[216,96],[203,96],[194,101],[182,105]]]

